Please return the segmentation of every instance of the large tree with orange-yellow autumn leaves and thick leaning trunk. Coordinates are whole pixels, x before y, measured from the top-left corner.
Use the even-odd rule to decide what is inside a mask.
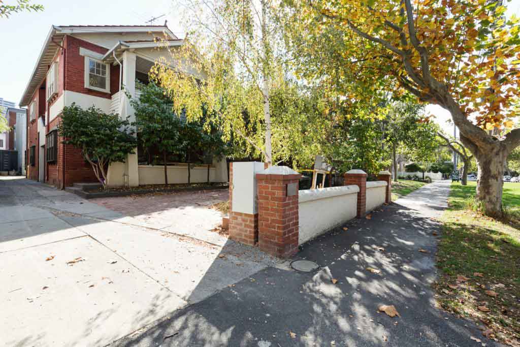
[[[520,145],[520,129],[501,137],[491,131],[512,126],[520,95],[520,30],[516,18],[504,18],[502,2],[290,4],[295,30],[305,31],[318,44],[313,38],[324,31],[340,38],[306,47],[307,55],[321,56],[328,46],[337,46],[340,62],[322,59],[323,65],[341,63],[369,91],[383,83],[395,94],[405,90],[451,113],[462,144],[477,161],[476,199],[488,215],[501,216],[504,163]]]

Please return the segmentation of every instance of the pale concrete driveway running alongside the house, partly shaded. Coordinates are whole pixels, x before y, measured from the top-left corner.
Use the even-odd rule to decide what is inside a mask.
[[[0,177],[0,344],[106,345],[274,264],[207,230],[211,192],[181,198],[129,213]]]

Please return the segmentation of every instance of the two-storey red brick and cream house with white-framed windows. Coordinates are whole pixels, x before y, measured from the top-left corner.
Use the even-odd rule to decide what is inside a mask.
[[[156,42],[157,37],[161,43]],[[132,120],[127,94],[138,94],[136,80],[147,83],[148,72],[160,57],[171,59],[165,45],[171,49],[183,45],[165,25],[53,25],[20,100],[20,106],[28,108],[27,177],[58,188],[96,182],[80,149],[64,145],[58,138],[63,107],[94,105]],[[109,186],[164,182],[159,166],[139,164],[137,158],[136,150],[125,163],[112,164]],[[205,182],[205,167],[194,169],[191,182]],[[185,183],[185,171],[186,165],[169,166],[168,181]],[[210,179],[227,181],[225,161],[214,161]]]

